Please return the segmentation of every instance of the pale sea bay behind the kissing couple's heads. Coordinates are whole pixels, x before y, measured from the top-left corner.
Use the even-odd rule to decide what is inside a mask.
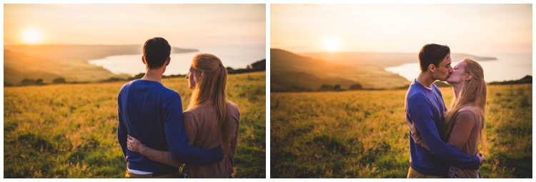
[[[490,54],[493,55],[493,54]],[[530,54],[495,54],[497,60],[477,61],[484,69],[484,80],[510,81],[532,76],[532,53]],[[452,67],[461,60],[452,60]],[[420,73],[420,66],[416,63],[402,64],[400,66],[385,69],[394,74],[399,74],[408,81],[413,81]]]

